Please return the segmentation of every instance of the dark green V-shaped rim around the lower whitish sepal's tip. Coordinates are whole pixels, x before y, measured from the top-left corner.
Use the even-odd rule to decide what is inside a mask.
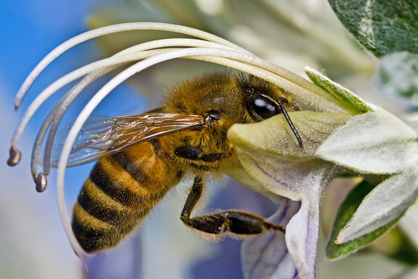
[[[355,252],[355,250],[363,248],[367,244],[377,239],[380,235],[387,232],[387,230],[395,225],[399,218],[401,218],[403,215],[401,214],[401,216],[398,216],[387,225],[384,225],[383,227],[380,227],[375,231],[370,232],[369,234],[365,234],[358,239],[354,239],[353,241],[348,241],[342,244],[336,244],[336,237],[339,235],[341,229],[345,227],[348,221],[353,217],[353,214],[355,211],[357,211],[364,197],[366,197],[366,195],[369,194],[375,187],[375,185],[372,185],[367,181],[362,181],[355,188],[353,188],[350,193],[348,193],[346,199],[344,200],[343,204],[341,204],[339,211],[336,214],[330,239],[327,243],[326,252],[329,259],[337,259],[339,257]]]

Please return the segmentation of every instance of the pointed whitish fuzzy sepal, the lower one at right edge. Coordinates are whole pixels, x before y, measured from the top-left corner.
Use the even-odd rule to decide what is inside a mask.
[[[401,215],[417,199],[417,181],[415,169],[407,169],[380,183],[364,198],[336,241],[345,243],[357,239]]]

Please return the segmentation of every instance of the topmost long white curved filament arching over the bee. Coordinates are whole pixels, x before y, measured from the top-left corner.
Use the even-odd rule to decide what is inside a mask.
[[[167,23],[160,23],[160,22],[128,22],[128,23],[122,23],[122,24],[114,24],[114,25],[110,25],[107,27],[101,27],[98,29],[84,32],[73,38],[70,38],[69,40],[66,40],[64,43],[62,43],[61,45],[56,47],[54,50],[52,50],[52,52],[49,52],[49,54],[47,54],[47,56],[45,56],[45,58],[42,59],[35,68],[33,68],[29,76],[26,77],[26,80],[23,82],[22,86],[20,86],[20,89],[17,92],[17,95],[15,97],[15,109],[17,110],[17,108],[20,107],[20,104],[22,103],[22,100],[24,96],[26,95],[26,92],[29,90],[29,88],[31,87],[33,82],[36,80],[36,78],[40,75],[40,73],[42,73],[42,71],[45,70],[45,68],[47,68],[49,63],[54,61],[58,56],[63,54],[65,51],[69,50],[75,45],[78,45],[79,43],[83,43],[86,40],[90,40],[92,38],[97,38],[97,37],[104,36],[104,35],[111,34],[111,33],[119,33],[123,31],[134,31],[134,30],[158,30],[158,31],[170,31],[174,33],[183,33],[185,35],[219,43],[221,45],[232,47],[235,50],[241,50],[243,52],[246,52],[246,50],[242,49],[242,47],[239,47],[238,45],[235,45],[229,42],[229,40],[219,38],[218,36],[215,36],[211,33],[207,33],[198,29],[184,27],[184,26],[176,25],[176,24],[167,24]]]

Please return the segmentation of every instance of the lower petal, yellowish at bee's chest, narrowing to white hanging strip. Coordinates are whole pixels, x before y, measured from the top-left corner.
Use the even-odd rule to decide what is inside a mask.
[[[320,197],[330,182],[334,165],[318,159],[291,160],[286,156],[278,156],[277,153],[280,153],[281,149],[278,152],[257,152],[249,148],[252,147],[251,144],[245,144],[245,139],[241,141],[242,134],[237,133],[237,135],[241,137],[234,137],[234,139],[238,138],[237,144],[234,142],[234,145],[240,163],[247,173],[272,193],[293,200],[302,200],[300,211],[293,216],[286,227],[286,246],[297,267],[299,278],[315,278]],[[255,148],[258,146],[256,145]],[[270,236],[270,241],[280,243],[281,239]],[[281,250],[280,253],[284,255],[285,251]],[[258,264],[256,267],[259,266]],[[271,273],[271,264],[265,266],[265,269],[268,269],[266,273]],[[250,273],[261,274],[261,271]]]

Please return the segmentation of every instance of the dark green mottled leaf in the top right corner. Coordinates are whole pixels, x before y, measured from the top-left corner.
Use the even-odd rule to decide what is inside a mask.
[[[329,2],[348,31],[376,56],[402,51],[418,53],[418,1]]]

